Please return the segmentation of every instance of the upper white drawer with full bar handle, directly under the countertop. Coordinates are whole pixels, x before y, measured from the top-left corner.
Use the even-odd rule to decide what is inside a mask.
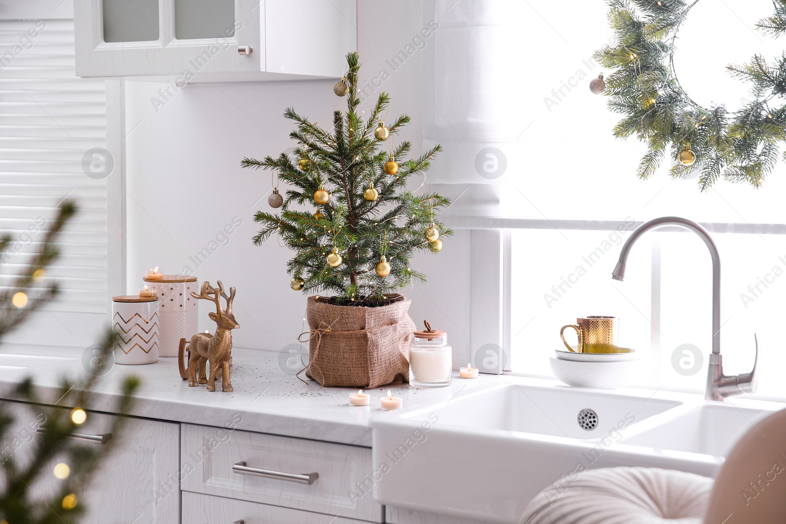
[[[383,522],[369,448],[192,424],[181,436],[184,491]]]

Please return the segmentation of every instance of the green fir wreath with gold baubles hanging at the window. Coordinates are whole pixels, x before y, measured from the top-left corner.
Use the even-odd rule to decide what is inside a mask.
[[[678,159],[670,176],[686,178],[699,170],[702,191],[719,178],[759,187],[786,140],[786,53],[773,63],[757,54],[748,64],[727,66],[733,78],[751,82],[753,101],[734,111],[722,104],[703,108],[682,89],[674,69],[678,31],[696,2],[608,0],[615,44],[594,58],[613,70],[602,92],[610,97],[609,108],[625,115],[614,135],[636,135],[648,146],[639,178],[652,176],[668,150]],[[773,4],[773,16],[756,26],[777,37],[786,32],[786,0]]]

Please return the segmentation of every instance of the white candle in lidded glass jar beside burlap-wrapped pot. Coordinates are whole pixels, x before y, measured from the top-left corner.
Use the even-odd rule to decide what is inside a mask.
[[[410,385],[414,387],[450,386],[453,376],[453,349],[447,345],[447,332],[426,329],[413,333],[410,347]]]

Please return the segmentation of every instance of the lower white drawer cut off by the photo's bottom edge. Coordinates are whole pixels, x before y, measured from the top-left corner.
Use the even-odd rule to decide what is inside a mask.
[[[363,521],[344,519],[342,516],[312,513],[292,508],[281,508],[244,500],[214,497],[200,493],[183,492],[183,520],[185,524],[363,524]]]

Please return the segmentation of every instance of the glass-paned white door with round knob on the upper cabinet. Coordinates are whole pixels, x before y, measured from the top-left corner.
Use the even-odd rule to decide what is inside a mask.
[[[264,7],[264,0],[74,0],[76,74],[178,75],[182,84],[265,71]]]

